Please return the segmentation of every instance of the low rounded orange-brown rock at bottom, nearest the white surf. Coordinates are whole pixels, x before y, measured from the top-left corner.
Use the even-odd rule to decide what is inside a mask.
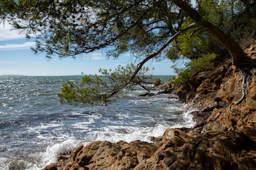
[[[95,141],[75,148],[70,157],[58,157],[57,165],[58,169],[131,169],[156,150],[157,144],[139,140],[131,143]]]

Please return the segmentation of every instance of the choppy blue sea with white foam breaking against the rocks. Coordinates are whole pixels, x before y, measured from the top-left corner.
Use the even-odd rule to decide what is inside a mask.
[[[61,84],[80,78],[0,76],[0,169],[41,169],[80,144],[150,142],[148,136],[161,136],[166,128],[194,125],[184,104],[169,94],[138,96],[141,89],[106,107],[60,105]]]

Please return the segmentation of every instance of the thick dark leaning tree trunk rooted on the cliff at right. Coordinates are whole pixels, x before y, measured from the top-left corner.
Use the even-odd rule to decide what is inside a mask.
[[[182,0],[173,0],[184,13],[196,21],[199,26],[203,26],[203,30],[216,37],[223,45],[225,45],[232,57],[233,64],[240,69],[255,67],[255,61],[247,57],[241,46],[227,36],[221,29],[202,18],[198,11],[191,8]]]

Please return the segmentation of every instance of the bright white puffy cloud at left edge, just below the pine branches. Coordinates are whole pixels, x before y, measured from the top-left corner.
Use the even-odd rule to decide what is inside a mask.
[[[19,34],[19,30],[13,30],[9,23],[1,22],[0,24],[0,41],[13,40],[13,39],[23,39],[26,37],[25,34]]]

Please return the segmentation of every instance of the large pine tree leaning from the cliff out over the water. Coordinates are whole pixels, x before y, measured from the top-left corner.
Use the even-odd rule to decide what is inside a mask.
[[[166,57],[170,52],[189,57],[189,54],[184,56],[180,48],[185,41],[177,40],[188,31],[191,35],[200,33],[198,36],[204,40],[209,40],[210,36],[217,39],[229,50],[238,68],[255,66],[255,61],[247,58],[223,27],[236,23],[242,17],[254,18],[255,3],[249,0],[207,2],[198,0],[192,7],[190,1],[182,0],[13,0],[0,2],[0,17],[16,29],[25,31],[28,38],[34,34],[34,52],[45,52],[49,58],[75,58],[101,48],[108,51],[108,57],[117,58],[125,52],[137,57],[140,62],[136,65],[119,67],[114,72],[100,70],[109,77],[111,84],[98,76],[86,76],[81,84],[63,84],[59,93],[60,100],[70,104],[106,104],[124,87],[145,82],[146,77],[142,75],[148,68],[143,68],[143,65],[148,60]],[[220,10],[224,8],[222,4],[230,9],[224,11],[227,14]],[[214,12],[212,7],[220,18],[208,16]],[[215,39],[212,43],[216,43]],[[195,51],[195,46],[192,45],[190,50]],[[203,53],[200,51],[202,56]],[[100,91],[102,86],[107,90]]]

